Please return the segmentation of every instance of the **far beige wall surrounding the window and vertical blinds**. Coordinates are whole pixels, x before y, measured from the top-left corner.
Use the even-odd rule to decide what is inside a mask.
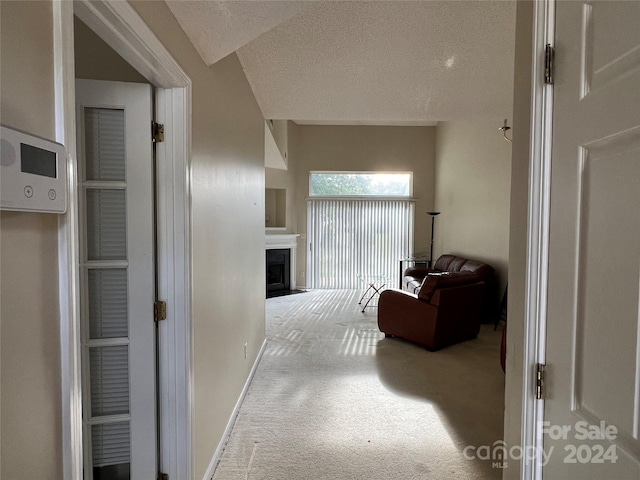
[[[427,211],[434,206],[435,127],[371,127],[298,125],[289,132],[290,156],[295,164],[298,232],[307,233],[309,172],[312,170],[413,172],[415,203],[415,250],[429,242]],[[430,217],[429,217],[430,218]],[[307,264],[306,240],[298,244],[300,273]]]

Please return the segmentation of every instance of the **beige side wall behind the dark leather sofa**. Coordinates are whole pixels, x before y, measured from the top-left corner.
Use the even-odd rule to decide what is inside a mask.
[[[502,120],[442,122],[436,134],[434,258],[459,254],[488,263],[507,283],[511,144]]]

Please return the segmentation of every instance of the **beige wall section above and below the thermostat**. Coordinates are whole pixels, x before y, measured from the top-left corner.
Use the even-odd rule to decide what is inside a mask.
[[[49,2],[0,2],[2,123],[55,138]],[[62,478],[58,216],[0,213],[0,477]]]

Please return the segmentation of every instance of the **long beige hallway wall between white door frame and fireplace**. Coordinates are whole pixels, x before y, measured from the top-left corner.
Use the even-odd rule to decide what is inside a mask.
[[[235,54],[207,67],[164,2],[131,5],[193,82],[194,475],[202,478],[265,338],[264,119]]]

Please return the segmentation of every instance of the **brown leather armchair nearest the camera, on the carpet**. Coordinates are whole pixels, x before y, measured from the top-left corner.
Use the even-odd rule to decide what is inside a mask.
[[[439,350],[478,336],[486,283],[474,272],[428,275],[416,293],[385,290],[378,302],[378,328]]]

